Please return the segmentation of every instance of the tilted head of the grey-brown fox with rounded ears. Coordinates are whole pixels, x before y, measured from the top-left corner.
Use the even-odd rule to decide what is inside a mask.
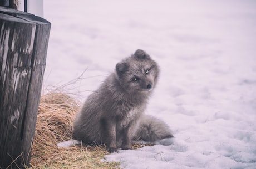
[[[151,91],[159,76],[159,66],[141,49],[116,64],[120,87],[130,93]]]

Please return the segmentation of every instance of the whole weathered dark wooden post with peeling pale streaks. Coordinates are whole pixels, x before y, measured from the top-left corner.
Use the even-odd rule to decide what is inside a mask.
[[[0,168],[29,166],[51,23],[0,7]]]

